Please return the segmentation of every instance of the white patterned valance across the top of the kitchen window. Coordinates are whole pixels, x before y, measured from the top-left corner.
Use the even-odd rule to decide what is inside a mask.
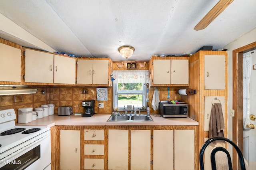
[[[113,83],[148,83],[148,70],[114,70]]]

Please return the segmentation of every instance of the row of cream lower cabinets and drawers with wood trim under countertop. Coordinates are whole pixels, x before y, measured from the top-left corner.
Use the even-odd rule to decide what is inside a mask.
[[[60,164],[56,161],[56,169],[194,170],[199,167],[195,162],[198,158],[196,126],[58,128],[60,149],[56,149],[56,156],[60,157],[56,160]]]

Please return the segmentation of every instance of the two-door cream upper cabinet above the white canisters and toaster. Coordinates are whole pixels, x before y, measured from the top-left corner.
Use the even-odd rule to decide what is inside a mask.
[[[76,59],[25,49],[24,84],[75,84]]]

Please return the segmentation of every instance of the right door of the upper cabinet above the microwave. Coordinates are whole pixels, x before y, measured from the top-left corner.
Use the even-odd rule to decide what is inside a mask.
[[[172,59],[171,70],[171,84],[188,84],[188,59]]]

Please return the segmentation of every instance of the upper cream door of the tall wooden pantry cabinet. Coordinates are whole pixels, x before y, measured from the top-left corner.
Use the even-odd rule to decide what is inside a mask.
[[[204,55],[204,89],[225,89],[225,55]]]

